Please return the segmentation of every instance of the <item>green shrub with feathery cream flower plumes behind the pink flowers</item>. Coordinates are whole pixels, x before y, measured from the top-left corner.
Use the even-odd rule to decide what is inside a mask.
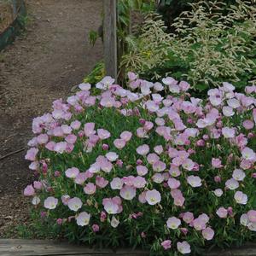
[[[247,1],[237,0],[230,9],[221,1],[200,1],[176,19],[171,34],[159,17],[149,16],[141,36],[129,38],[122,67],[144,79],[186,79],[195,90],[207,91],[224,81],[241,90],[255,80],[255,14]]]

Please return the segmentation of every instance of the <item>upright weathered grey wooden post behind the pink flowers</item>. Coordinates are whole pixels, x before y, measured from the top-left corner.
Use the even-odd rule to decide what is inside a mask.
[[[103,0],[104,4],[104,58],[107,75],[117,79],[117,5],[116,0]]]

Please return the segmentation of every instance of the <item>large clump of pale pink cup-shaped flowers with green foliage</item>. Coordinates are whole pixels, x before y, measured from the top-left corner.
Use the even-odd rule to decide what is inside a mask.
[[[105,77],[33,119],[26,160],[42,221],[72,241],[153,255],[251,240],[256,231],[255,86],[207,101],[170,77]]]

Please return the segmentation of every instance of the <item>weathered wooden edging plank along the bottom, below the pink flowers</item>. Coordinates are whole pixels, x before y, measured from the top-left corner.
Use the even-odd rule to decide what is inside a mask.
[[[83,246],[74,246],[66,242],[0,239],[1,256],[148,256],[146,251],[131,249],[98,250]],[[214,250],[207,256],[256,256],[256,244],[247,244],[241,248]]]

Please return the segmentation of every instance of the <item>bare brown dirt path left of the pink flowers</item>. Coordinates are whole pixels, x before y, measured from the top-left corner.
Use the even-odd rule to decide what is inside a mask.
[[[32,181],[24,160],[32,119],[102,59],[102,43],[88,42],[101,25],[102,0],[27,0],[27,8],[26,32],[0,53],[0,237],[28,218],[21,193]]]

